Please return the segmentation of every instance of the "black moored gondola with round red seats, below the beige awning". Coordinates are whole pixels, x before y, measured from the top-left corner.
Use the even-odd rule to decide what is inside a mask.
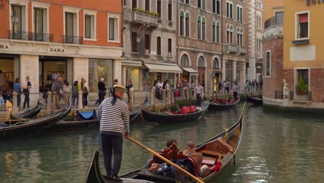
[[[154,123],[177,123],[200,119],[208,108],[209,102],[206,98],[201,102],[201,110],[188,114],[172,114],[169,112],[150,112],[147,109],[142,109],[141,117],[143,121]]]

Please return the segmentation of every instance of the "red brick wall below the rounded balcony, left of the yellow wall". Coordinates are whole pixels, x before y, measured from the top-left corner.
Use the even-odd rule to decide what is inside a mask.
[[[281,38],[276,38],[264,42],[263,51],[264,55],[266,55],[266,51],[271,51],[271,73],[270,77],[263,78],[263,96],[268,98],[275,98],[275,91],[282,91],[283,40]],[[265,73],[266,60],[264,60],[263,64]]]

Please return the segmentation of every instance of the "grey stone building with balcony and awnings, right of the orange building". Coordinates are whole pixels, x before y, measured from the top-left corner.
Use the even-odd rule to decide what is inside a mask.
[[[123,83],[150,90],[154,80],[174,85],[182,70],[177,65],[177,3],[162,0],[123,1]]]

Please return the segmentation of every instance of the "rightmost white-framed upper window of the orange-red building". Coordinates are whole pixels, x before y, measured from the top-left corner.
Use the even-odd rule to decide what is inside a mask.
[[[119,15],[108,15],[108,42],[119,42]]]

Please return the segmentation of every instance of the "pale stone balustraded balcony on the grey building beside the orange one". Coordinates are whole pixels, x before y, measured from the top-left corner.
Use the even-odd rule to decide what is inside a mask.
[[[132,24],[146,24],[149,26],[158,26],[157,15],[152,15],[152,12],[145,12],[144,10],[132,11]]]

